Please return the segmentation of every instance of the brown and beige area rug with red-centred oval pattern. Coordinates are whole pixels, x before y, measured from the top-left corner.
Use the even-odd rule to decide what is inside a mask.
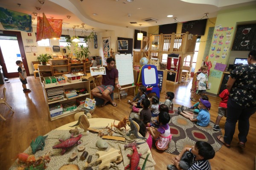
[[[174,108],[174,110],[176,109]],[[193,113],[185,106],[184,111]],[[134,114],[136,113],[132,112],[130,117],[133,118]],[[169,126],[172,133],[172,140],[165,152],[178,155],[184,147],[192,147],[197,141],[205,141],[211,144],[215,152],[221,148],[222,143],[218,141],[217,136],[222,135],[222,133],[221,131],[213,130],[214,122],[211,121],[207,127],[202,127],[179,115],[178,111],[169,114],[171,116]],[[152,118],[151,121],[153,119],[156,118]]]

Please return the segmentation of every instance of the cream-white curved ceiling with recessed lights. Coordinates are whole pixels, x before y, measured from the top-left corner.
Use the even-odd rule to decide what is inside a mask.
[[[207,4],[201,4],[202,1]],[[76,25],[79,26],[76,30],[81,31],[84,29],[81,23],[85,23],[84,27],[89,32],[92,28],[101,32],[119,27],[140,29],[140,24],[143,28],[175,23],[175,17],[179,22],[198,20],[205,13],[212,18],[220,10],[253,5],[256,0],[41,0],[41,3],[39,0],[0,0],[0,7],[31,14],[35,18],[33,26],[36,26],[37,17],[32,13],[36,12],[42,17],[44,12],[47,18],[63,19],[63,23],[68,23],[62,26],[65,30],[73,30],[72,27]],[[71,16],[70,19],[67,15]],[[145,22],[145,18],[154,18],[157,22]]]

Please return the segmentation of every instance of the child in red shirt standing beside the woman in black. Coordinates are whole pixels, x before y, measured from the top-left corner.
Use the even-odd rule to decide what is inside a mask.
[[[219,127],[219,123],[223,116],[226,117],[228,96],[229,96],[229,92],[227,89],[222,91],[221,94],[219,95],[219,97],[221,98],[221,102],[218,107],[218,116],[216,118],[215,125],[213,126],[213,130],[221,130],[221,128]]]

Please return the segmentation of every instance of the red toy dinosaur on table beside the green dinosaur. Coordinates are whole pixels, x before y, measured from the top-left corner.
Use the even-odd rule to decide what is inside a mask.
[[[52,147],[52,149],[62,149],[61,155],[63,155],[68,148],[73,147],[76,143],[81,144],[81,142],[79,142],[81,137],[82,134],[79,134],[77,137],[73,137],[73,135],[71,135],[70,139],[63,141],[60,144],[56,144],[55,146]]]

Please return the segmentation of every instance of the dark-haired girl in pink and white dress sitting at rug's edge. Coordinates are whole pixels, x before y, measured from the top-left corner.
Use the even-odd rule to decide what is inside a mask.
[[[171,117],[168,112],[160,112],[157,116],[157,121],[160,123],[158,129],[148,127],[151,136],[156,140],[156,147],[158,150],[168,149],[168,145],[172,139],[170,127],[168,125]]]

